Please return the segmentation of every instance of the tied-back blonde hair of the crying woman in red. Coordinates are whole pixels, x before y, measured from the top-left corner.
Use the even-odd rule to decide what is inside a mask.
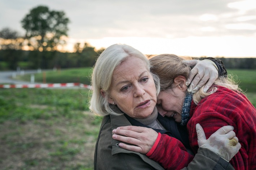
[[[173,88],[174,79],[180,75],[184,76],[186,79],[189,77],[191,68],[182,61],[190,59],[192,58],[179,57],[174,54],[161,54],[151,56],[149,58],[150,64],[152,65],[151,72],[158,75],[160,79],[160,91]],[[228,75],[228,77],[222,76],[217,78],[214,84],[217,86],[229,88],[237,92],[242,92],[231,75]],[[198,104],[204,97],[207,97],[217,91],[216,86],[210,87],[208,92],[204,92],[203,87],[193,94],[193,101],[195,104]]]

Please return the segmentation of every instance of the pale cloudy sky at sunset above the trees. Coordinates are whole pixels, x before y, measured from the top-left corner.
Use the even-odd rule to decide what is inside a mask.
[[[0,30],[25,34],[32,8],[64,11],[71,49],[125,43],[144,54],[256,57],[255,0],[0,0]]]

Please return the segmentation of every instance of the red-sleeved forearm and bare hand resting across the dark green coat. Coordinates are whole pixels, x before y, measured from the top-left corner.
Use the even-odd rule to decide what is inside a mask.
[[[119,127],[114,129],[112,132],[114,133],[112,138],[118,141],[136,145],[134,146],[119,143],[119,147],[134,152],[144,154],[148,153],[147,156],[149,156],[150,159],[160,163],[164,169],[180,170],[187,166],[194,158],[193,155],[190,155],[186,151],[185,146],[178,139],[170,137],[166,134],[161,135],[151,128],[127,126]],[[154,143],[156,145],[154,145]],[[161,144],[163,148],[158,150],[158,144]],[[154,151],[151,150],[153,145],[157,146],[155,149],[153,149]],[[150,155],[150,153],[152,153],[152,155]],[[160,157],[156,153],[158,153]],[[173,164],[173,162],[175,162],[175,164]]]

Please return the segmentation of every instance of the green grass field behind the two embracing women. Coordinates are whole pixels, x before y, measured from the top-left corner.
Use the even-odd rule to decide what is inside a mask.
[[[47,72],[47,82],[78,79],[88,84],[89,72],[90,68]],[[256,106],[255,70],[228,73],[237,75]],[[20,77],[24,78],[30,80],[30,75]],[[35,78],[42,82],[43,74]],[[101,118],[89,112],[88,95],[85,88],[0,89],[0,169],[92,170]]]

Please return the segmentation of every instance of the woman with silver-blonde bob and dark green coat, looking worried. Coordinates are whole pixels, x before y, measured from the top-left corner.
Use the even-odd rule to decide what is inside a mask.
[[[112,45],[102,52],[93,69],[90,103],[90,109],[95,114],[104,116],[96,143],[94,169],[163,170],[162,166],[146,155],[125,150],[119,147],[119,141],[112,139],[112,130],[126,125],[150,127],[156,134],[159,132],[168,135],[171,142],[169,146],[174,151],[173,169],[182,169],[193,160],[194,156],[188,152],[189,144],[186,133],[183,133],[184,129],[178,130],[175,121],[158,114],[155,107],[158,84],[158,77],[150,73],[149,60],[140,51],[127,45]],[[225,133],[225,137],[219,136],[222,137],[221,141],[227,143],[235,134],[230,127],[224,127],[222,133],[225,130],[231,131]],[[202,136],[203,131],[198,132]],[[199,141],[203,144],[209,143],[208,140]],[[220,144],[218,141],[215,143]],[[234,148],[236,149],[232,151],[233,154],[238,152],[239,146]],[[230,147],[223,149],[230,152]],[[202,150],[197,159],[205,159],[208,163],[198,166],[205,169],[213,169],[214,166],[225,169],[230,166],[228,162],[216,161],[221,158],[213,152]],[[191,166],[197,166],[197,161],[193,161]]]

